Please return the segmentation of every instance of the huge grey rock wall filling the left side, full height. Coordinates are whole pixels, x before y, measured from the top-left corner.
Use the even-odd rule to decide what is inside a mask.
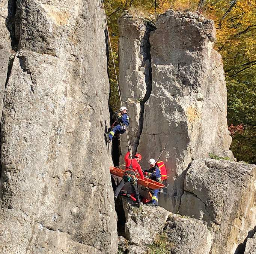
[[[101,6],[24,0],[15,7],[18,51],[1,122],[0,253],[116,253]],[[9,60],[2,52],[1,84]]]

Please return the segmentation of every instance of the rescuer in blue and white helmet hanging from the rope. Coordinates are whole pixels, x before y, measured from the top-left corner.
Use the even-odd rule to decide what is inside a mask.
[[[125,133],[125,130],[127,129],[130,120],[128,114],[126,114],[127,110],[128,109],[126,107],[120,108],[119,112],[121,115],[117,118],[117,122],[119,122],[119,124],[114,126],[106,136],[108,143],[112,141],[112,138],[116,132],[120,134]]]

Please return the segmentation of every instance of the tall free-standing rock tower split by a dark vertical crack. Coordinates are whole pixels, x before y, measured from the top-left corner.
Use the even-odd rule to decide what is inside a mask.
[[[155,27],[124,16],[119,30],[119,83],[132,116],[131,143],[134,152],[142,153],[143,167],[166,146],[161,159],[169,170],[169,186],[161,205],[177,211],[183,177],[173,183],[175,175],[209,153],[232,157],[223,65],[213,49],[214,22],[169,10]],[[124,152],[125,137],[121,146]]]

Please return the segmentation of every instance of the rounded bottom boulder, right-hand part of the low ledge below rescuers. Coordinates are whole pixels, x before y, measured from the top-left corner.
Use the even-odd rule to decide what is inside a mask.
[[[172,214],[164,227],[175,254],[209,254],[212,236],[202,221]]]

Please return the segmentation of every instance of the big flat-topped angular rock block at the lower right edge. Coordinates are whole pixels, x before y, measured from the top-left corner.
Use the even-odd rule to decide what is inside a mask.
[[[214,159],[192,162],[179,211],[208,224],[214,237],[212,254],[244,248],[242,243],[256,225],[255,182],[255,165]]]

